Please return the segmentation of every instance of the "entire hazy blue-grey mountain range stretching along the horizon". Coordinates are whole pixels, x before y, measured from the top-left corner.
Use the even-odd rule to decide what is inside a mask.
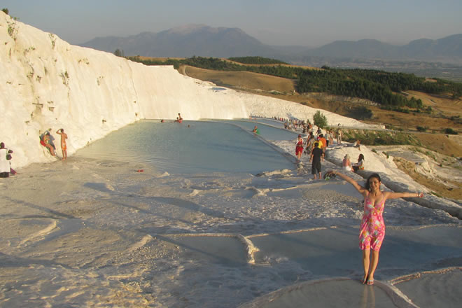
[[[302,42],[301,42],[302,43]],[[421,38],[407,45],[381,41],[335,41],[319,48],[272,46],[261,43],[239,28],[188,25],[158,33],[143,32],[133,36],[97,37],[83,47],[146,57],[275,57],[294,62],[306,57],[349,59],[386,59],[462,63],[462,34],[437,40]]]

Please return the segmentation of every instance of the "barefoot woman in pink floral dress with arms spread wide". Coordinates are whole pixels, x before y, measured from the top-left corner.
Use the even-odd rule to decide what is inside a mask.
[[[379,174],[371,174],[365,188],[345,174],[329,171],[350,183],[364,197],[364,214],[359,232],[359,248],[363,251],[363,284],[374,284],[374,273],[379,264],[379,251],[385,237],[385,224],[382,216],[385,201],[402,197],[423,197],[423,193],[393,193],[380,190]],[[372,253],[370,250],[372,249]]]

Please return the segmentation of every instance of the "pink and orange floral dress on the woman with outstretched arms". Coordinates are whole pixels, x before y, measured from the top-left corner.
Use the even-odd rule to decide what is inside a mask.
[[[369,195],[364,199],[364,214],[359,232],[359,248],[379,251],[385,237],[384,212],[385,198],[373,204]]]

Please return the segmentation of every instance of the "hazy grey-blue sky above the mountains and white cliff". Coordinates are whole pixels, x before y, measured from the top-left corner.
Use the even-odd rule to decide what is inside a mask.
[[[374,38],[397,45],[462,33],[462,0],[0,0],[69,43],[188,24],[238,27],[271,45]]]

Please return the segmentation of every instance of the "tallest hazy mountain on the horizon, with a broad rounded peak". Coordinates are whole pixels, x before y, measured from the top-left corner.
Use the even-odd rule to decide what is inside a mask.
[[[277,53],[269,45],[261,43],[239,28],[214,28],[205,25],[188,25],[127,37],[99,37],[81,46],[107,52],[119,49],[125,55],[146,57],[264,57]]]

